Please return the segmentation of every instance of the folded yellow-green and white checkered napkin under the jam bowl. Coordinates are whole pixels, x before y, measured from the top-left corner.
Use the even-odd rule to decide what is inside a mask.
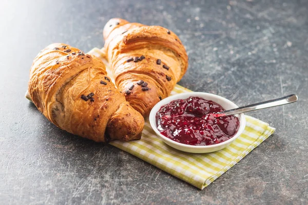
[[[102,50],[94,48],[89,54],[101,57],[106,63]],[[108,65],[107,72],[112,77]],[[182,92],[191,91],[176,85],[171,95]],[[260,145],[274,131],[275,128],[269,127],[267,123],[246,116],[245,130],[233,144],[213,153],[192,154],[176,150],[164,144],[151,129],[150,123],[146,119],[140,140],[128,142],[112,141],[110,145],[137,156],[199,189],[204,189]]]

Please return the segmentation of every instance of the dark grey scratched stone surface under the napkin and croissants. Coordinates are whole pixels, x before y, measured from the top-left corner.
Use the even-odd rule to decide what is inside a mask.
[[[0,203],[307,204],[307,1],[4,1],[0,7]],[[176,32],[180,85],[239,106],[296,93],[252,116],[277,128],[203,191],[110,145],[56,128],[25,98],[32,59],[53,42],[102,47],[111,17]]]

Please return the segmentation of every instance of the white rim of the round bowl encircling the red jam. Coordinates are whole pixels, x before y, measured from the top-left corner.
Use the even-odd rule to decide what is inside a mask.
[[[156,113],[161,109],[162,106],[170,103],[173,100],[184,99],[184,98],[188,98],[189,96],[199,96],[199,97],[202,97],[202,98],[206,99],[206,97],[204,97],[204,95],[210,96],[210,97],[213,97],[213,98],[216,98],[216,99],[220,99],[222,101],[225,101],[229,105],[233,106],[234,108],[238,108],[238,106],[235,103],[233,103],[232,101],[228,100],[227,98],[224,98],[224,97],[216,95],[216,94],[206,93],[206,92],[185,92],[185,93],[179,93],[179,94],[175,94],[175,95],[170,95],[170,96],[164,98],[163,100],[159,101],[159,103],[157,103],[151,109],[151,112],[150,112],[150,115],[149,115],[149,122],[150,122],[150,125],[151,125],[152,129],[163,140],[166,140],[166,141],[168,141],[171,144],[174,144],[176,146],[180,146],[180,147],[188,148],[188,149],[198,149],[198,150],[213,149],[213,148],[217,148],[217,147],[222,147],[222,146],[227,145],[227,144],[231,144],[234,140],[236,140],[242,134],[242,132],[245,129],[246,119],[245,119],[245,115],[243,113],[236,115],[239,118],[239,121],[240,121],[240,127],[239,127],[238,131],[236,132],[236,134],[232,138],[229,138],[228,140],[223,141],[223,142],[221,142],[219,144],[215,144],[215,145],[205,145],[205,146],[186,145],[186,144],[182,144],[180,142],[174,141],[172,139],[169,139],[168,137],[162,135],[158,131],[157,125],[156,125]],[[215,100],[213,100],[213,101],[215,101]],[[215,101],[215,103],[216,103],[216,101]]]

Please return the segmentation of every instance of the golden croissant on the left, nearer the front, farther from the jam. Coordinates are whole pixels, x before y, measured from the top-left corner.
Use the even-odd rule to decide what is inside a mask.
[[[34,59],[28,91],[57,127],[99,142],[140,139],[144,119],[106,76],[101,59],[51,44]]]

